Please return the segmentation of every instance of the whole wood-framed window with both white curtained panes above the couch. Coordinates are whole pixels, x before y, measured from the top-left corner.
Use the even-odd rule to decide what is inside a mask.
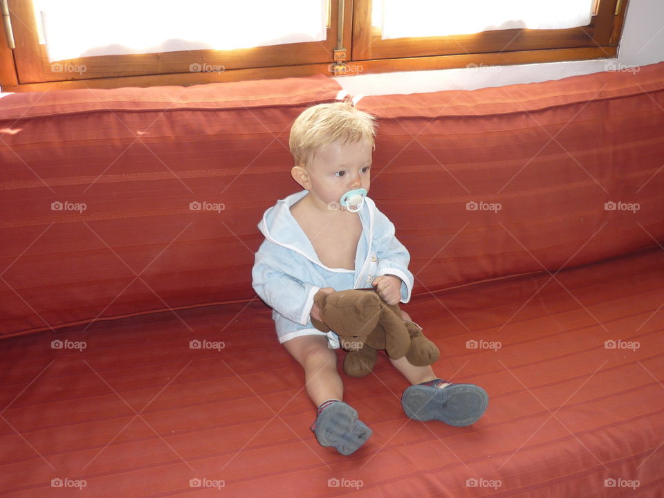
[[[175,21],[166,20],[164,12],[156,12],[155,7],[131,6],[149,6],[154,0],[85,0],[76,12],[75,29],[69,26],[59,33],[54,26],[63,26],[63,21],[58,20],[57,9],[63,9],[59,13],[71,21],[73,14],[66,15],[64,7],[81,0],[0,3],[3,1],[8,3],[16,48],[8,48],[4,27],[0,26],[0,84],[4,91],[33,91],[330,75],[338,47],[345,49],[349,74],[358,70],[380,73],[615,57],[628,0],[306,0],[306,30],[294,28],[291,15],[296,3],[304,0],[157,2],[160,9],[177,12]],[[223,14],[210,10],[216,3],[226,6]],[[427,4],[448,8],[427,11]],[[535,4],[544,8],[544,24],[528,7]],[[42,16],[35,15],[35,5],[37,11],[46,12],[44,33],[47,39],[57,40],[53,42],[57,46],[44,44],[39,26]],[[580,13],[565,14],[562,8],[572,5],[580,6]],[[399,11],[400,6],[409,10]],[[464,6],[470,6],[470,11],[464,12]],[[109,8],[116,9],[117,15],[111,15]],[[196,23],[193,12],[204,19]],[[219,19],[220,15],[226,17],[215,24],[215,17]],[[405,23],[407,17],[419,20],[414,31],[409,31],[413,28]],[[566,24],[548,24],[554,17]],[[445,22],[422,22],[436,18]],[[154,24],[163,28],[169,23],[167,41],[163,35],[156,37],[141,28]],[[120,42],[123,46],[113,47],[118,43],[95,26],[111,26],[111,33],[127,33]],[[216,32],[215,26],[220,28]],[[261,38],[243,39],[240,47],[230,46],[228,38],[220,36],[225,33],[219,31],[226,31],[223,26],[241,26],[241,37],[259,34]],[[441,27],[448,30],[441,32]],[[293,30],[302,36],[285,39]],[[71,48],[62,38],[67,31],[76,31],[77,37],[91,45],[82,52]],[[239,38],[230,37],[236,42]],[[109,52],[109,46],[122,50]],[[221,49],[208,48],[212,46]],[[100,51],[100,47],[107,51]]]

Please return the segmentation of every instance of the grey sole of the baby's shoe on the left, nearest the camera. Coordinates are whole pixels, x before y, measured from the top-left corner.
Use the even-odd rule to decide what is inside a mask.
[[[358,412],[343,402],[333,403],[323,410],[314,432],[322,446],[331,446],[344,456],[358,450],[373,434],[358,420]]]

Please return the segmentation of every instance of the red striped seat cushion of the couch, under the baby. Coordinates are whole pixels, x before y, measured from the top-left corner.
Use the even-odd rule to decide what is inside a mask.
[[[441,348],[436,374],[481,385],[487,412],[470,427],[410,421],[407,382],[380,353],[375,375],[341,374],[374,431],[349,457],[309,430],[302,368],[260,303],[183,310],[191,330],[158,313],[6,340],[2,496],[661,498],[664,251],[558,277],[565,288],[529,275],[408,304]]]

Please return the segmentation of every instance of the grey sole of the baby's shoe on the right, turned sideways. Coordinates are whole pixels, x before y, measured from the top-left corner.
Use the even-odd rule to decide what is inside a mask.
[[[442,389],[414,385],[405,390],[401,406],[416,421],[439,420],[454,427],[465,427],[486,412],[489,396],[474,384],[452,384]]]

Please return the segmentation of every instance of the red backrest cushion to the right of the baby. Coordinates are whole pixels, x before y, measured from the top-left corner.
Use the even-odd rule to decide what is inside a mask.
[[[664,63],[358,108],[378,118],[370,196],[414,293],[664,242]]]

